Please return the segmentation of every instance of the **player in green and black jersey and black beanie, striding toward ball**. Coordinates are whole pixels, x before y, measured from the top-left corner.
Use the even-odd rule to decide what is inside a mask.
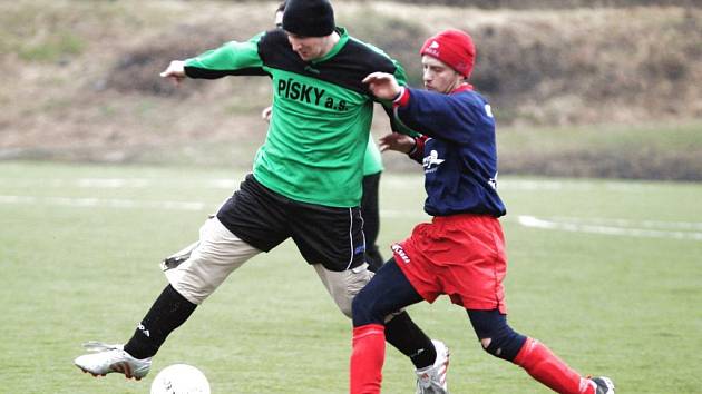
[[[379,70],[406,79],[387,55],[335,26],[328,0],[290,0],[282,30],[172,61],[162,76],[178,83],[269,76],[273,109],[266,140],[253,174],[201,228],[189,258],[166,270],[168,286],[131,338],[124,346],[90,343],[96,353],[76,358],[76,365],[94,375],[142,378],[166,337],[232,272],[287,238],[350,316],[353,297],[372,277],[359,203],[374,99],[362,80]],[[389,316],[386,337],[417,371],[447,362],[437,362],[435,344],[406,312]]]

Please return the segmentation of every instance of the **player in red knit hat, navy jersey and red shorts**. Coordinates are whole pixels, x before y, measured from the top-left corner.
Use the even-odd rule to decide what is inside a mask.
[[[558,393],[613,394],[610,378],[583,377],[507,324],[507,259],[498,220],[506,210],[497,194],[495,119],[489,104],[467,82],[475,46],[467,33],[446,30],[429,38],[420,53],[427,90],[400,87],[383,72],[363,80],[376,97],[394,100],[398,120],[423,132],[420,138],[390,134],[381,138],[381,149],[409,154],[423,165],[425,211],[433,219],[392,246],[393,258],[353,301],[351,394],[380,392],[384,317],[442,294],[466,308],[487,353],[519,365]],[[447,392],[445,382],[429,376],[446,367],[448,363],[428,371],[418,392]]]

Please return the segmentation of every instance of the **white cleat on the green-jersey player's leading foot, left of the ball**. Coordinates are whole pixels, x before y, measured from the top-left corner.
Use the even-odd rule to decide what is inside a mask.
[[[84,347],[94,353],[76,358],[74,364],[92,376],[105,376],[117,372],[124,374],[127,378],[134,377],[139,381],[148,374],[148,370],[152,367],[152,357],[144,359],[134,358],[123,349],[123,345],[88,342],[84,344]]]

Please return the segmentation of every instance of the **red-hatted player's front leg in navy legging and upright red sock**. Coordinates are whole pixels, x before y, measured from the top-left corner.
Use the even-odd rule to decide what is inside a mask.
[[[394,259],[388,260],[353,298],[351,394],[380,393],[387,322],[393,312],[421,301]],[[421,353],[435,353],[430,361],[433,363],[436,351],[430,343]]]

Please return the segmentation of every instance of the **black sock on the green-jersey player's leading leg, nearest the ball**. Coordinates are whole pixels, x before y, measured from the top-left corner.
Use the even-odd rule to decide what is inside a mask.
[[[173,286],[166,286],[125,345],[125,352],[139,359],[154,356],[168,334],[185,323],[195,307],[197,305],[185,299]]]

